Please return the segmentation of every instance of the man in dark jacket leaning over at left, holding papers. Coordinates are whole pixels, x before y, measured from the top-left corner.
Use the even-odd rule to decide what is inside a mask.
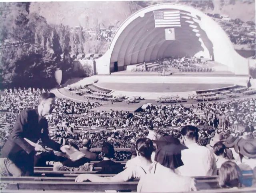
[[[34,155],[36,152],[44,152],[45,149],[40,145],[32,146],[28,140],[36,143],[41,139],[45,146],[61,151],[60,144],[49,138],[48,122],[44,117],[52,113],[54,103],[53,93],[43,93],[39,98],[38,108],[20,112],[12,134],[1,152],[1,170],[4,169],[5,174],[34,174]]]

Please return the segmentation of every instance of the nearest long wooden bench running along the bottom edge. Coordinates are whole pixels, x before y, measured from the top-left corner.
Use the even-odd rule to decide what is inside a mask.
[[[252,177],[252,176],[251,176]],[[65,190],[65,191],[136,191],[138,180],[129,182],[74,182],[75,177],[3,177],[1,183],[7,184],[10,190]],[[196,187],[199,190],[220,189],[217,176],[196,177]],[[222,189],[224,190],[224,189]],[[255,191],[256,188],[248,188],[248,192]],[[3,192],[1,190],[1,192]],[[7,191],[6,191],[7,192]],[[247,192],[247,191],[246,191]]]

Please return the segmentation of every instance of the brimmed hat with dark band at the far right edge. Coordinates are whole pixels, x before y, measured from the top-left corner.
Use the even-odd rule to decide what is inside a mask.
[[[236,153],[240,153],[248,158],[256,158],[256,139],[252,136],[240,138],[234,147]]]

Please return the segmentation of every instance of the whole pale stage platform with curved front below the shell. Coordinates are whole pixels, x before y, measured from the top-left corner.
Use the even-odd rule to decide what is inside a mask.
[[[182,73],[159,76],[150,72],[120,71],[111,75],[94,75],[70,86],[95,84],[103,89],[111,89],[113,96],[140,96],[155,100],[162,96],[179,95],[188,98],[196,91],[222,89],[234,85],[246,86],[248,76],[228,73]]]

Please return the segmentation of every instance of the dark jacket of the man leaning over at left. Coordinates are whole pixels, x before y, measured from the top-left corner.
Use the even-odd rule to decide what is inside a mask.
[[[18,167],[25,167],[24,171],[30,170],[33,173],[34,147],[24,138],[36,143],[39,139],[42,144],[60,151],[60,144],[51,140],[48,136],[48,122],[46,118],[40,118],[37,109],[27,109],[20,112],[12,134],[4,144],[1,151],[1,158],[9,158]]]

